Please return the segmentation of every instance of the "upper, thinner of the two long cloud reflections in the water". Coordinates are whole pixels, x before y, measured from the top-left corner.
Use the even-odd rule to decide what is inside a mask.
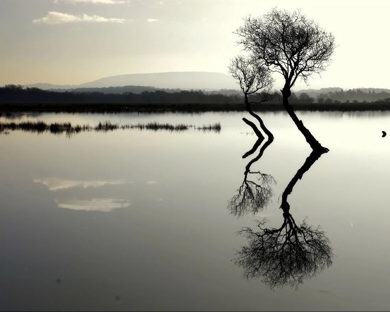
[[[79,180],[64,180],[64,179],[57,179],[57,178],[43,178],[43,179],[34,179],[33,181],[36,183],[42,183],[43,185],[46,185],[48,189],[51,191],[73,188],[76,186],[82,188],[88,188],[88,187],[97,188],[99,186],[104,186],[104,185],[117,185],[117,184],[131,183],[131,182],[126,182],[125,179],[79,181]]]

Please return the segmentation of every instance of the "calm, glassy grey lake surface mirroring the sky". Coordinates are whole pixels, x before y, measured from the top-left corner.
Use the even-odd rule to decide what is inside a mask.
[[[222,129],[0,135],[0,309],[388,310],[390,138],[381,131],[390,133],[390,113],[297,114],[330,151],[296,181],[289,212],[298,227],[305,218],[314,231],[321,225],[319,240],[333,248],[329,268],[309,260],[298,287],[283,284],[278,269],[289,270],[277,260],[273,285],[261,275],[243,278],[234,261],[249,243],[237,231],[261,232],[256,220],[264,218],[268,229],[284,223],[281,195],[310,155],[284,112],[261,114],[275,140],[247,181],[268,193],[263,209],[259,201],[238,206],[240,217],[228,206],[261,149],[242,158],[256,142],[241,120],[254,121],[246,112],[9,116],[91,125],[219,121]],[[303,269],[294,266],[296,278]]]

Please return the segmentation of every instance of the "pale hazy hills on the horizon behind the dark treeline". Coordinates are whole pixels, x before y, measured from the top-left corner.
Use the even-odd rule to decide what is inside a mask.
[[[34,83],[25,85],[25,87],[37,87],[43,90],[54,90],[64,92],[72,90],[73,92],[103,92],[103,93],[119,93],[133,92],[140,94],[142,91],[154,92],[163,90],[165,92],[178,92],[180,90],[205,90],[206,93],[220,94],[241,94],[239,85],[236,81],[227,74],[205,72],[205,71],[183,71],[183,72],[166,72],[166,73],[144,73],[144,74],[124,74],[118,76],[110,76],[94,80],[92,82],[81,83],[79,85],[53,85],[50,83]],[[277,89],[277,88],[276,88]],[[343,90],[340,87],[328,87],[321,89],[302,89],[293,90],[295,95],[299,97],[303,92],[316,100],[318,97],[331,98],[333,100],[350,101],[366,100],[376,101],[388,97],[389,89],[381,88],[358,88]],[[371,94],[371,92],[375,94]],[[363,92],[363,94],[360,94]],[[380,92],[385,92],[380,94]],[[370,93],[365,95],[364,93]]]

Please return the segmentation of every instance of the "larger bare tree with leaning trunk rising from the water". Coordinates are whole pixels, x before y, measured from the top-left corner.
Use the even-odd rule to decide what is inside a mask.
[[[289,12],[276,8],[259,18],[248,16],[236,32],[238,44],[250,54],[250,59],[268,66],[283,75],[281,90],[283,105],[312,149],[325,148],[314,138],[289,104],[291,87],[300,77],[307,83],[314,73],[320,73],[330,64],[335,48],[334,37],[325,32],[300,10]]]

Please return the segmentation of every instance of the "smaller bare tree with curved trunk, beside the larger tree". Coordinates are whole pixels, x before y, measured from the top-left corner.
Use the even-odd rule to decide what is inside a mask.
[[[239,55],[230,61],[229,72],[232,77],[237,80],[240,88],[243,90],[246,110],[259,121],[260,127],[264,133],[266,133],[269,138],[273,138],[271,131],[264,125],[261,117],[254,113],[250,107],[251,104],[266,102],[274,97],[271,88],[275,81],[271,78],[269,69],[258,60]],[[260,90],[261,92],[259,92]],[[257,97],[258,101],[249,101],[249,96],[252,94]],[[247,119],[243,118],[243,121],[254,128]],[[260,136],[256,131],[255,133],[257,136],[262,137],[262,135]]]

